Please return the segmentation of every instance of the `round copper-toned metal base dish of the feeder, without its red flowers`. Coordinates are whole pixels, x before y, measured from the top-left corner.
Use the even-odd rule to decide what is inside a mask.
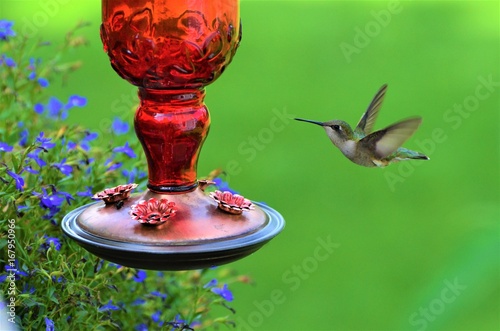
[[[161,225],[133,220],[130,207],[140,200],[168,199],[176,215]],[[189,270],[241,259],[266,244],[283,229],[283,217],[256,203],[255,210],[232,215],[199,188],[182,194],[152,191],[132,195],[117,205],[91,203],[68,213],[63,231],[89,252],[127,267]]]

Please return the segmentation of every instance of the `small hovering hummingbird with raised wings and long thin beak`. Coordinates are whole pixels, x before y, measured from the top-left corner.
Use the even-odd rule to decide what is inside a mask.
[[[418,129],[422,122],[420,117],[409,118],[372,132],[386,91],[387,85],[384,84],[375,94],[354,131],[349,124],[339,120],[328,122],[303,118],[295,120],[321,125],[332,143],[349,160],[365,167],[385,167],[391,163],[410,159],[429,160],[422,153],[401,147]]]

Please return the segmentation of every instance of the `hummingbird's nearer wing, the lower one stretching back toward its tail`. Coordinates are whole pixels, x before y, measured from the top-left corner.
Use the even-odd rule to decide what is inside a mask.
[[[373,132],[359,142],[361,146],[372,151],[376,158],[383,159],[401,147],[417,131],[420,123],[420,117],[409,118]]]

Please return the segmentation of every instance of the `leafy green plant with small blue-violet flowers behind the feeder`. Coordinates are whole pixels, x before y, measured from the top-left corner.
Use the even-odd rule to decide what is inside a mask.
[[[141,331],[234,325],[228,284],[248,277],[228,268],[137,270],[104,261],[63,236],[63,216],[94,193],[124,183],[146,186],[139,170],[146,161],[135,153],[139,143],[128,123],[115,118],[100,134],[69,125],[65,119],[87,99],[50,95],[58,77],[81,66],[61,59],[86,44],[76,34],[84,26],[68,32],[47,60],[36,53],[52,45],[18,36],[13,22],[0,20],[0,308],[8,319],[0,325]]]

